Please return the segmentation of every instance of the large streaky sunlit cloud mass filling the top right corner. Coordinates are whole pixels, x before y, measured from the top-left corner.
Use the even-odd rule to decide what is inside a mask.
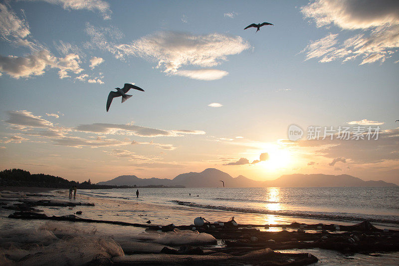
[[[360,64],[384,62],[399,48],[399,1],[316,0],[301,8],[317,27],[335,26],[356,32],[342,43],[338,33],[311,42],[303,52],[306,60],[320,62],[363,58]],[[358,33],[360,31],[360,33]]]

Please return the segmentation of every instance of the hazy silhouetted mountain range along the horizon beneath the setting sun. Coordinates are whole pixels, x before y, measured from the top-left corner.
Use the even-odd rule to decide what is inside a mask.
[[[98,185],[113,186],[184,186],[188,188],[215,188],[224,186],[228,188],[254,188],[254,187],[397,187],[394,183],[385,181],[364,181],[350,175],[324,175],[324,174],[292,174],[283,175],[275,180],[256,181],[244,176],[236,178],[214,168],[208,168],[200,173],[190,172],[180,174],[174,179],[168,178],[139,178],[134,175],[118,176],[109,181],[99,182]]]

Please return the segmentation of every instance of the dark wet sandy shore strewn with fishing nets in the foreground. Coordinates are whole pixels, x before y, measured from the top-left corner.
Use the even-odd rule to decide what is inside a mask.
[[[237,224],[207,217],[209,224],[205,221],[196,226],[192,220],[195,208],[185,213],[191,223],[177,223],[172,213],[161,223],[152,216],[157,208],[161,211],[159,206],[145,200],[104,199],[79,192],[76,199],[68,200],[66,190],[23,189],[6,187],[1,192],[1,207],[9,208],[1,208],[0,213],[2,265],[186,265],[189,262],[338,265],[364,261],[395,265],[399,262],[398,231],[368,224],[353,227],[349,223],[291,223],[265,228],[265,225],[240,223],[238,215],[234,218]],[[137,219],[119,215],[122,209],[128,209]],[[161,212],[173,212],[173,208],[165,206]],[[223,212],[214,211],[214,214],[223,217]],[[225,212],[224,217],[227,215],[237,213]],[[341,228],[338,230],[337,226]],[[60,254],[57,258],[51,256],[55,250]]]

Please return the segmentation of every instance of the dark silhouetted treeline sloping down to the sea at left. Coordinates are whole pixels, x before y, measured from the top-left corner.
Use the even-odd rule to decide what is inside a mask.
[[[39,187],[39,188],[70,188],[76,186],[78,189],[112,189],[112,188],[134,188],[132,186],[110,186],[92,184],[90,179],[82,183],[68,181],[59,176],[45,174],[30,174],[22,169],[9,169],[0,172],[0,186],[12,187]]]

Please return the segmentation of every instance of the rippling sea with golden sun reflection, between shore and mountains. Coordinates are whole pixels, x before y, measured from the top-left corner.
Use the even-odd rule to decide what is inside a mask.
[[[139,192],[139,198],[136,189],[80,193],[153,205],[157,212],[146,212],[146,219],[157,222],[168,218],[171,223],[191,224],[197,216],[218,221],[234,216],[238,223],[261,225],[294,221],[354,224],[367,219],[376,226],[399,229],[399,187],[140,188]],[[134,219],[136,214],[128,217],[129,210],[119,211],[139,222]]]

